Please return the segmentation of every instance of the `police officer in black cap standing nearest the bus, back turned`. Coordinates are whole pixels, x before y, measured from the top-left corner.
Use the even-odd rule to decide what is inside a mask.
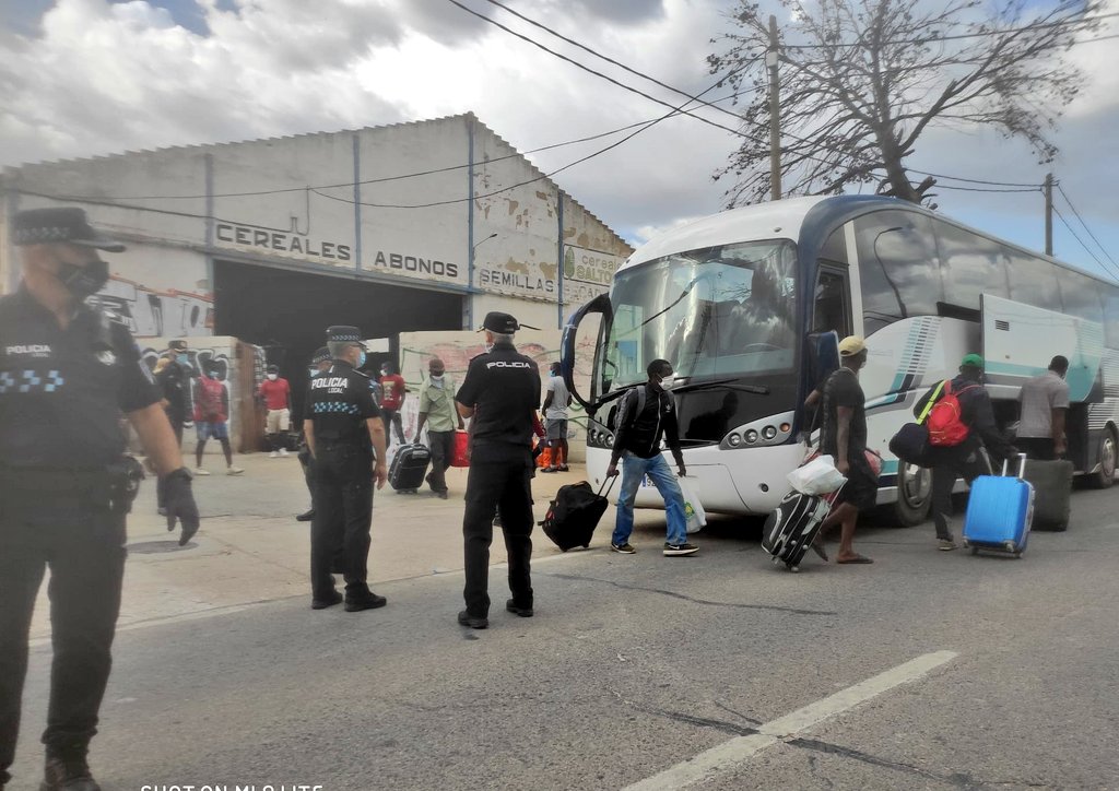
[[[489,625],[489,547],[493,517],[500,507],[501,529],[509,553],[509,588],[505,609],[521,618],[533,615],[533,417],[540,405],[540,373],[530,358],[513,346],[520,329],[508,313],[487,313],[482,323],[487,352],[470,360],[455,396],[459,414],[472,417],[467,510],[462,519],[467,609],[459,623],[471,629]]]

